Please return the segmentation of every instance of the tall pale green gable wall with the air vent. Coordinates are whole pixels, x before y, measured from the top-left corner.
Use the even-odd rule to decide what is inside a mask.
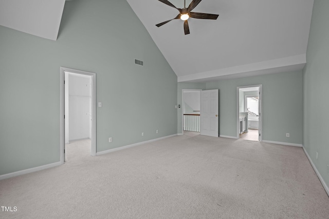
[[[177,133],[177,76],[126,1],[66,2],[57,41],[0,26],[0,48],[0,175],[60,161],[61,66],[97,74],[97,152]]]

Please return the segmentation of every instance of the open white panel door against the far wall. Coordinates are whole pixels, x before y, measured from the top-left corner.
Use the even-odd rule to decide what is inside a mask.
[[[200,134],[218,137],[218,89],[200,92]]]

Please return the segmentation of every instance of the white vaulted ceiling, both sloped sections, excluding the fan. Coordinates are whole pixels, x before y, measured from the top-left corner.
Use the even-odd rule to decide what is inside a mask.
[[[178,82],[205,82],[300,70],[314,0],[203,0],[194,12],[216,20],[189,18],[158,0],[126,0],[176,73]],[[169,0],[177,8],[184,0]],[[186,0],[188,6],[192,0]],[[56,40],[65,0],[0,0],[0,25]],[[97,1],[95,1],[97,4]]]

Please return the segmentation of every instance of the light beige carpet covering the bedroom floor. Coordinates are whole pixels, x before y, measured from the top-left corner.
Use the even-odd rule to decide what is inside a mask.
[[[302,148],[182,135],[0,181],[1,218],[328,218]]]

